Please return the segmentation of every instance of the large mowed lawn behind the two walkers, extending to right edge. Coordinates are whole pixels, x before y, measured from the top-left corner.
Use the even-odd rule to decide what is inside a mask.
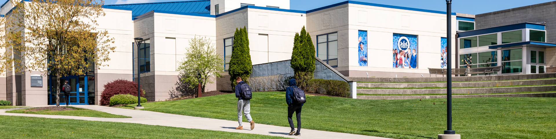
[[[289,127],[284,92],[254,92],[253,96],[251,116],[256,123]],[[508,100],[454,98],[454,130],[464,138],[474,139],[556,136],[556,98]],[[437,138],[446,130],[446,105],[442,103],[445,101],[307,96],[302,108],[302,128],[389,138]],[[141,105],[146,111],[237,120],[237,98],[233,94]]]

